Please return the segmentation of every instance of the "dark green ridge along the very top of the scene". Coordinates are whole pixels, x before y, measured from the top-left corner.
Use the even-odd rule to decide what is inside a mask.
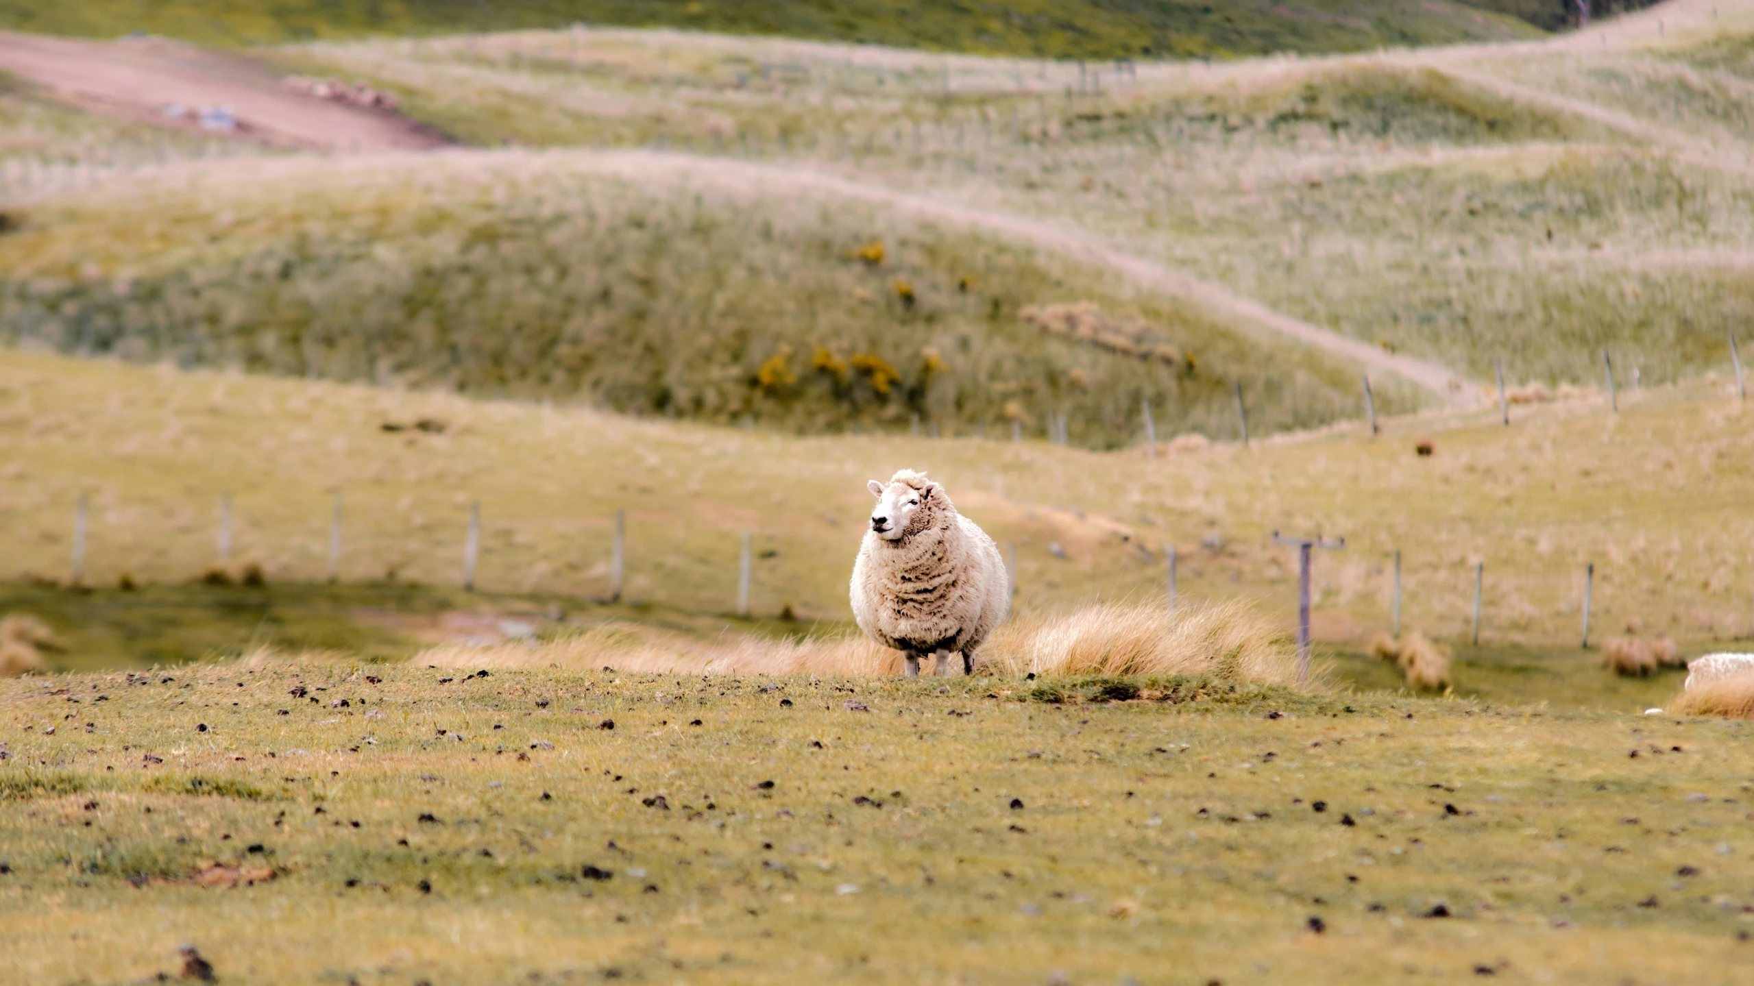
[[[1526,21],[1482,11],[1489,7],[1491,2],[1465,5],[1451,0],[1310,0],[1296,9],[1265,0],[1152,0],[1131,5],[1102,0],[514,0],[491,5],[465,0],[291,0],[268,7],[242,0],[77,0],[60,5],[0,0],[0,26],[98,37],[144,30],[239,46],[591,23],[1047,58],[1235,58],[1538,33]]]

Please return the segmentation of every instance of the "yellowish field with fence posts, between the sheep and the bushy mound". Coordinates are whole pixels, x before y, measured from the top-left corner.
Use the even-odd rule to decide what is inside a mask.
[[[1512,428],[1451,412],[1387,419],[1375,439],[1342,426],[1147,458],[1035,439],[788,437],[46,354],[7,353],[0,367],[0,519],[23,533],[9,579],[67,579],[84,495],[88,584],[188,582],[216,563],[230,493],[233,568],[321,582],[340,491],[344,584],[458,586],[467,505],[481,502],[484,593],[591,598],[609,593],[624,509],[628,602],[730,612],[738,537],[752,530],[752,611],[789,607],[803,630],[845,619],[865,481],[914,467],[1017,546],[1024,612],[1161,598],[1175,546],[1187,598],[1258,598],[1289,626],[1294,553],[1270,544],[1284,530],[1347,539],[1316,567],[1317,635],[1340,649],[1387,628],[1396,549],[1405,623],[1438,639],[1470,637],[1477,561],[1487,646],[1593,661],[1575,649],[1586,563],[1598,640],[1631,623],[1696,654],[1754,632],[1742,509],[1754,444],[1722,381],[1626,391],[1619,414],[1584,393],[1517,405]],[[409,426],[419,419],[444,430]],[[1415,454],[1419,440],[1435,454]]]

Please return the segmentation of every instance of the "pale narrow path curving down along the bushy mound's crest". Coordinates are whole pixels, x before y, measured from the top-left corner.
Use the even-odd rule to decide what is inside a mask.
[[[1109,246],[1096,237],[1052,223],[970,209],[952,200],[931,195],[912,195],[879,184],[854,182],[838,175],[809,168],[756,165],[723,158],[693,158],[686,154],[658,154],[645,151],[609,151],[596,154],[593,165],[626,177],[668,174],[689,181],[705,181],[749,193],[784,195],[800,188],[824,191],[889,209],[916,214],[923,219],[951,223],[972,230],[1000,233],[1040,249],[1070,256],[1098,267],[1119,270],[1130,281],[1165,295],[1186,298],[1205,312],[1254,335],[1279,335],[1351,360],[1366,370],[1403,377],[1430,391],[1444,404],[1472,404],[1477,391],[1447,367],[1412,356],[1396,356],[1382,349],[1314,326],[1307,321],[1275,312],[1266,305],[1233,293],[1230,288],[1191,277],[1172,267],[1145,260]]]

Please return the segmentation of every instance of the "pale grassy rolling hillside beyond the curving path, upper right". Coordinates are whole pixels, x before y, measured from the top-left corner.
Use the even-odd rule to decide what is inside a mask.
[[[758,158],[1056,221],[1489,379],[1722,370],[1754,298],[1745,11],[1237,65],[1016,63],[674,32],[275,49],[475,144]],[[1591,35],[1594,39],[1594,33]]]

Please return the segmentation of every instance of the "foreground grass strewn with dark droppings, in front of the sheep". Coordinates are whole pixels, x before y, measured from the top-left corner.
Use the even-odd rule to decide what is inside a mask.
[[[140,981],[191,942],[251,982],[1582,984],[1601,963],[1726,982],[1749,947],[1745,725],[1021,686],[349,663],[4,682],[0,961]],[[209,863],[275,875],[191,886]]]

